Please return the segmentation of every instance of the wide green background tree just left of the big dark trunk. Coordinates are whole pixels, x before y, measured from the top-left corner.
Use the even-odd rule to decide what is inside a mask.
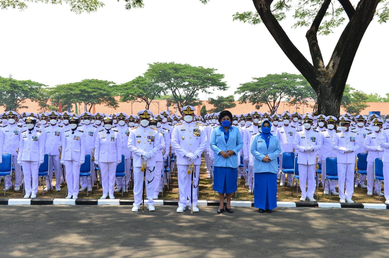
[[[240,84],[235,94],[243,94],[240,103],[251,102],[259,109],[266,104],[270,113],[274,114],[282,99],[291,101],[291,104],[303,103],[305,95],[303,88],[308,85],[302,75],[290,73],[268,74],[266,77],[253,78],[254,81]]]

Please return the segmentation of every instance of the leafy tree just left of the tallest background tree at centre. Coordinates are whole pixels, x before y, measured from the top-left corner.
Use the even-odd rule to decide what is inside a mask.
[[[125,84],[117,85],[117,89],[121,96],[120,101],[142,99],[146,103],[145,109],[149,109],[151,101],[161,96],[161,92],[165,91],[163,87],[143,76],[138,76]]]

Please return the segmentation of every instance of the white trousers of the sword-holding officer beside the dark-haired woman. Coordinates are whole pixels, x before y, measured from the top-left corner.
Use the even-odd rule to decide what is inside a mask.
[[[178,191],[180,201],[178,206],[186,207],[187,199],[189,197],[189,203],[191,203],[191,181],[192,174],[188,174],[189,165],[177,165],[178,172]],[[197,206],[197,189],[198,178],[200,173],[200,165],[195,165],[196,174],[193,174],[193,206]],[[193,171],[192,171],[193,173]],[[195,177],[196,175],[196,177]],[[195,188],[196,187],[196,188]]]

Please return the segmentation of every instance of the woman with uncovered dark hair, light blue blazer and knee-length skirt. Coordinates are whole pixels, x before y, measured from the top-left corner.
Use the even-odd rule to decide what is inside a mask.
[[[238,127],[232,127],[232,114],[224,110],[219,114],[219,123],[210,139],[210,148],[214,151],[214,190],[219,193],[220,205],[217,213],[224,210],[223,200],[226,194],[226,211],[233,213],[231,208],[232,193],[237,190],[238,152],[243,147],[242,136]]]

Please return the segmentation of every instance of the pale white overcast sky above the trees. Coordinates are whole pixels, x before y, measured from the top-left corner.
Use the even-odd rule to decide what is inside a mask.
[[[125,10],[124,1],[103,1],[91,14],[68,5],[28,3],[20,12],[0,10],[0,76],[47,85],[86,78],[128,82],[148,63],[176,62],[218,69],[232,94],[239,84],[270,73],[297,73],[263,24],[232,21],[254,10],[251,0],[144,0],[143,9]],[[291,40],[309,58],[305,33],[282,22]],[[327,63],[343,29],[319,37]],[[354,59],[347,83],[364,92],[387,93],[389,24],[373,20]],[[213,96],[221,94],[215,92]],[[226,95],[226,93],[223,93]],[[201,94],[200,99],[212,95]]]

